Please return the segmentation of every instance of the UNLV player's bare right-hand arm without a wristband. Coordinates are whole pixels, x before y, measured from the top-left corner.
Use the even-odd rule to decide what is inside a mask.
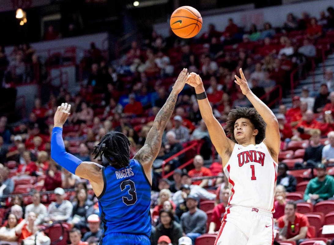
[[[278,153],[280,151],[281,146],[281,135],[280,129],[278,126],[278,121],[272,110],[262,102],[248,87],[247,80],[243,75],[242,69],[240,68],[240,77],[235,75],[234,82],[238,84],[241,88],[241,91],[246,97],[251,101],[254,108],[259,112],[262,118],[265,120],[266,127],[266,138],[264,139],[264,143],[268,147],[272,157],[274,160],[278,161]]]

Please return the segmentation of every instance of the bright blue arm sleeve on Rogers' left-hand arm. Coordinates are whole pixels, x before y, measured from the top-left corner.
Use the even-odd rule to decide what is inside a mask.
[[[52,130],[51,158],[72,174],[75,174],[76,168],[82,163],[79,158],[66,152],[62,139],[62,128],[59,127],[55,127]]]

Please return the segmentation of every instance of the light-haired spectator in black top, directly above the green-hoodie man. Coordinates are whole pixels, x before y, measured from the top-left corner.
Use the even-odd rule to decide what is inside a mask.
[[[312,129],[310,145],[305,149],[303,164],[296,164],[295,167],[314,168],[322,160],[322,149],[324,145],[320,143],[321,132],[319,129]]]

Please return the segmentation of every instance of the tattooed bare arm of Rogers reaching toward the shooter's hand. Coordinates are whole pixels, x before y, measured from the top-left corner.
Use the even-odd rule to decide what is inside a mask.
[[[187,76],[187,69],[183,69],[183,71],[181,71],[179,77],[177,78],[173,86],[172,92],[170,93],[166,103],[156,115],[153,126],[146,137],[144,146],[133,157],[134,159],[137,159],[139,162],[141,162],[141,164],[143,165],[145,174],[149,179],[150,183],[152,183],[151,168],[153,161],[155,160],[160,151],[162,134],[164,133],[166,124],[174,111],[177,96],[182,91]]]

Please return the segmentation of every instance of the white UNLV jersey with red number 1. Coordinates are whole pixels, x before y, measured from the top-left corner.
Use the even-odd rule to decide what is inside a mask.
[[[235,144],[224,167],[231,190],[228,205],[275,212],[277,166],[263,142],[246,147]]]

